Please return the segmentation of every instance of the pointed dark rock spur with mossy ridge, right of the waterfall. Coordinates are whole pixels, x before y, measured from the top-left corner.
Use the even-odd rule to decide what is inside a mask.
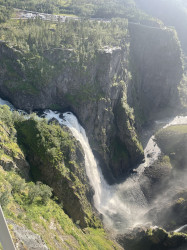
[[[133,110],[127,104],[126,90],[115,109],[117,135],[111,148],[111,168],[115,176],[127,173],[131,168],[140,163],[144,158],[141,143],[135,129]]]

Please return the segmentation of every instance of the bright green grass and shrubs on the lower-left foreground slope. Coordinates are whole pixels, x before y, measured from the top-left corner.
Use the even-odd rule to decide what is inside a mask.
[[[31,203],[30,187],[38,188],[38,184],[25,183],[24,189],[11,195],[12,184],[9,180],[12,178],[17,182],[24,180],[15,172],[6,172],[1,167],[0,176],[0,191],[6,189],[10,194],[8,204],[4,206],[6,218],[12,219],[18,225],[23,224],[34,233],[41,235],[50,249],[56,249],[56,239],[58,239],[61,249],[69,247],[75,249],[117,249],[117,246],[107,239],[103,229],[87,228],[83,233],[64,213],[61,205],[57,204],[56,198],[55,200],[48,199],[48,202],[43,203],[40,196],[43,184],[39,185],[40,188]]]

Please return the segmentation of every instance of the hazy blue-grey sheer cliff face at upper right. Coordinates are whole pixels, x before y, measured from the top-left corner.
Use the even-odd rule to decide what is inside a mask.
[[[176,33],[166,27],[129,23],[132,84],[128,99],[144,123],[171,114],[179,105],[183,68]]]

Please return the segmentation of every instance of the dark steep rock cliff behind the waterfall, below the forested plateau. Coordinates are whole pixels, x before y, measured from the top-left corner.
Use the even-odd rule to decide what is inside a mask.
[[[60,70],[47,85],[37,86],[33,91],[30,86],[26,87],[28,79],[19,64],[21,55],[2,43],[1,55],[6,60],[1,64],[0,90],[18,108],[73,111],[85,127],[92,149],[102,161],[106,178],[113,181],[112,176],[121,177],[143,159],[134,126],[130,125],[131,133],[125,125],[133,124],[132,117],[125,108],[116,111],[123,105],[123,93],[129,82],[128,53],[128,46],[124,49],[105,47],[96,52],[85,68],[75,63],[73,50],[45,51],[45,59],[58,64]],[[125,115],[120,126],[118,113]],[[124,134],[128,135],[128,140]],[[120,158],[115,152],[116,145],[121,151]]]

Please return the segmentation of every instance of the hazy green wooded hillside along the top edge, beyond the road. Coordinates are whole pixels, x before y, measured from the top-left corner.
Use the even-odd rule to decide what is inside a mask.
[[[133,0],[0,0],[0,4],[8,7],[45,12],[50,14],[76,15],[97,18],[142,18],[143,14],[136,8]]]

